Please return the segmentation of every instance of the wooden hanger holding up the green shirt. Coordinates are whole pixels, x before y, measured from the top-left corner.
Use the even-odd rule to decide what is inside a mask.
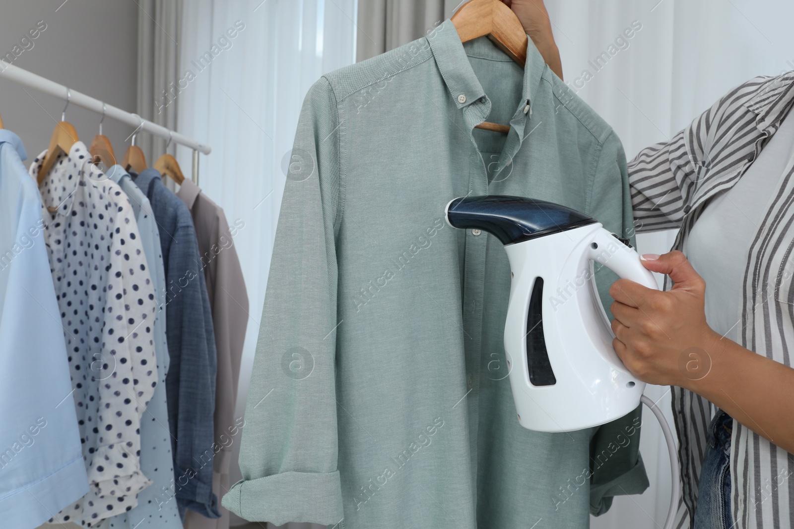
[[[480,36],[488,36],[500,50],[515,60],[521,67],[526,64],[527,37],[521,22],[513,10],[500,0],[471,0],[453,14],[452,23],[461,36],[461,42],[468,42]],[[507,134],[510,125],[499,125],[484,121],[475,128],[483,128]]]

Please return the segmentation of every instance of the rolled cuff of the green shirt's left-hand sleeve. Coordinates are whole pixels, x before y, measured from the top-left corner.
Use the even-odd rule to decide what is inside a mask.
[[[344,517],[339,471],[284,472],[237,481],[223,496],[229,511],[249,522],[333,525]]]

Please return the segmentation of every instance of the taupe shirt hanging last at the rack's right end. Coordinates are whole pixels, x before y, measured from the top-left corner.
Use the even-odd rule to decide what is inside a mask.
[[[212,487],[215,496],[229,490],[229,465],[233,443],[240,442],[242,417],[234,416],[237,403],[237,380],[243,354],[245,328],[249,320],[248,293],[234,236],[244,227],[236,221],[229,226],[223,209],[201,192],[191,180],[184,180],[176,194],[190,209],[195,225],[198,251],[206,279],[206,290],[212,310],[215,348],[218,352],[218,374],[215,378],[215,452]],[[221,517],[206,518],[197,512],[185,516],[186,529],[228,529],[229,511],[218,505]]]

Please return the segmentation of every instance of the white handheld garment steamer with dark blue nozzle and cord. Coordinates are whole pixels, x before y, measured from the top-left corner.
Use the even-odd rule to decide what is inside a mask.
[[[619,419],[645,403],[669,448],[673,496],[665,529],[673,527],[679,470],[673,433],[642,394],[612,347],[609,319],[595,288],[593,263],[621,278],[658,289],[629,241],[584,213],[552,202],[489,195],[449,201],[447,224],[491,233],[511,268],[504,349],[518,423],[534,431],[574,431]]]

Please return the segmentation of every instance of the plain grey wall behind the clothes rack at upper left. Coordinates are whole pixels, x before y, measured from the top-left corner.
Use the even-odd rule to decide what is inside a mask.
[[[133,0],[14,0],[0,5],[0,56],[22,48],[28,30],[44,21],[46,29],[13,61],[18,67],[69,86],[128,112],[135,112],[137,91],[137,2]],[[28,36],[29,38],[29,36]],[[31,43],[33,47],[31,48]],[[4,60],[8,60],[7,58]],[[28,162],[47,148],[64,100],[0,78],[0,116],[28,151]],[[91,144],[100,114],[69,105],[66,120],[80,140]],[[103,132],[119,159],[133,131],[106,118]],[[128,142],[129,144],[129,142]]]

